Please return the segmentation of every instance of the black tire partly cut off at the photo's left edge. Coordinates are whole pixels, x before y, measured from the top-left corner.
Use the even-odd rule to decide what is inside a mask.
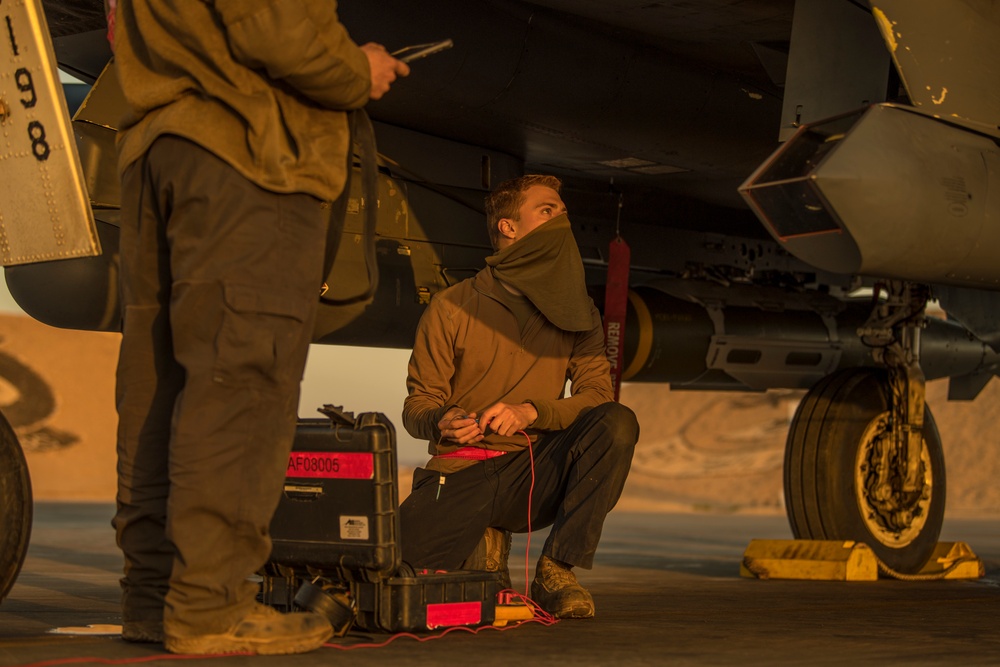
[[[31,536],[31,478],[14,429],[0,415],[0,600],[21,571]]]

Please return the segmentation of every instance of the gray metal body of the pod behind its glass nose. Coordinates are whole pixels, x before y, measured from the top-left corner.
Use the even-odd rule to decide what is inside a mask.
[[[997,152],[987,137],[882,105],[817,168],[816,185],[860,248],[860,273],[995,289]]]

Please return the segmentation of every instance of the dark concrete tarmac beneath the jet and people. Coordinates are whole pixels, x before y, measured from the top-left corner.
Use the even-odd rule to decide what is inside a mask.
[[[20,578],[0,605],[0,665],[176,664],[160,645],[52,634],[120,623],[121,558],[108,504],[38,503]],[[974,581],[758,581],[739,576],[751,539],[791,537],[779,516],[612,513],[591,571],[597,616],[553,626],[401,637],[380,648],[185,660],[269,665],[998,665],[1000,520],[952,519],[986,566]],[[544,534],[530,544],[534,565]],[[511,554],[524,586],[525,539]],[[388,635],[354,636],[381,642]],[[172,656],[177,658],[177,656]]]

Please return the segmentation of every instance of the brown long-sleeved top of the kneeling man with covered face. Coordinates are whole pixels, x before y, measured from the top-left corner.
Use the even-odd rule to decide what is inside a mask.
[[[413,437],[429,441],[431,454],[456,448],[437,444],[437,423],[452,406],[481,413],[498,401],[530,402],[538,418],[529,433],[539,433],[562,430],[586,410],[614,400],[604,330],[593,303],[589,331],[563,331],[536,312],[522,338],[517,319],[497,296],[502,289],[487,267],[436,294],[420,319],[403,425]],[[563,398],[566,380],[572,395]],[[508,451],[525,445],[522,436],[496,434],[478,444]]]

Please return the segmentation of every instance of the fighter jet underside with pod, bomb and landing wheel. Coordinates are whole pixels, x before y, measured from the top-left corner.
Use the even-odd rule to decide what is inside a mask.
[[[96,83],[73,133],[102,254],[5,256],[7,282],[43,322],[114,331],[122,102],[103,3],[44,5],[60,67]],[[342,0],[340,14],[359,43],[454,47],[369,105],[378,206],[353,179],[317,342],[409,347],[431,296],[490,252],[484,193],[556,174],[599,306],[609,242],[632,249],[623,379],[808,390],[787,443],[793,532],[923,565],[945,504],[925,382],[971,400],[1000,368],[1000,5]],[[3,520],[20,526],[26,473],[0,439]]]

